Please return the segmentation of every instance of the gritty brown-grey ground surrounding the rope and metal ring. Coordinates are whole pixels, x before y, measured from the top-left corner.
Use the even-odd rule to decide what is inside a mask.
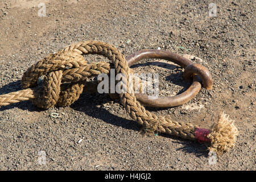
[[[39,2],[45,3],[46,16],[38,15],[43,8]],[[0,1],[0,94],[20,90],[20,78],[30,65],[75,42],[100,40],[124,55],[161,48],[200,57],[194,61],[209,69],[214,85],[182,106],[147,109],[206,128],[225,111],[239,130],[236,147],[210,165],[205,144],[143,136],[141,126],[108,94],[82,94],[71,106],[48,110],[24,101],[0,108],[0,169],[255,170],[256,3],[214,1],[214,17],[208,14],[210,3]],[[104,60],[86,56],[94,59]],[[161,95],[188,88],[184,69],[162,60],[146,61],[134,71],[158,72]],[[44,154],[40,151],[46,154],[46,164],[38,163]]]

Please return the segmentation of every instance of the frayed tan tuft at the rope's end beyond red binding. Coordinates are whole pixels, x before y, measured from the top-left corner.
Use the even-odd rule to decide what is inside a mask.
[[[238,130],[234,126],[234,121],[229,119],[229,116],[224,112],[220,114],[218,121],[212,125],[210,131],[208,135],[210,139],[209,151],[214,151],[220,155],[235,146]]]

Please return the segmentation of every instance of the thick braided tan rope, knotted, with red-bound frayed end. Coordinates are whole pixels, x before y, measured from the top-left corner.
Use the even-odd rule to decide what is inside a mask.
[[[115,71],[125,75],[126,79],[122,81],[129,90],[129,73],[132,73],[132,70],[129,68],[125,56],[108,43],[85,41],[71,44],[28,68],[22,77],[24,90],[0,96],[0,106],[24,100],[32,100],[35,105],[45,109],[54,105],[71,105],[82,93],[86,79],[100,73],[109,73],[110,70],[110,64],[103,61],[88,64],[82,56],[87,54],[103,55],[112,60]],[[43,75],[45,77],[42,88],[42,86],[36,86],[36,82]],[[193,126],[191,123],[172,121],[170,118],[158,117],[147,111],[137,101],[134,90],[131,93],[121,93],[119,97],[130,117],[147,131],[210,142],[209,150],[215,151],[217,154],[234,147],[238,131],[233,121],[224,113],[220,115],[211,130],[202,133],[203,129]]]

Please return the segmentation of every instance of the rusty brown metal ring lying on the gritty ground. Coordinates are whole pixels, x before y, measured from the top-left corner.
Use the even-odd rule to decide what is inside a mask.
[[[129,67],[135,63],[138,63],[142,59],[164,59],[172,61],[181,67],[185,68],[184,77],[193,77],[192,85],[189,86],[185,92],[177,94],[176,96],[159,97],[155,100],[149,99],[147,94],[135,93],[135,96],[141,104],[151,107],[174,107],[185,104],[199,93],[201,89],[201,77],[203,77],[203,83],[207,86],[207,89],[212,88],[212,77],[207,68],[200,64],[193,64],[191,60],[186,59],[176,53],[156,50],[156,49],[144,49],[142,51],[135,52],[126,57]],[[186,69],[187,68],[187,69]],[[200,76],[199,76],[200,75]],[[206,78],[205,78],[206,77]]]

